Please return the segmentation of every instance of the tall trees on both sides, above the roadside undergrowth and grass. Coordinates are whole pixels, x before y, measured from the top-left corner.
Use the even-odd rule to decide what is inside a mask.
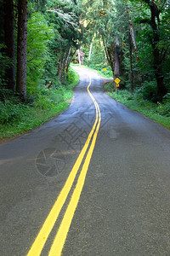
[[[105,51],[102,61],[105,63],[106,58],[114,79],[117,76],[124,81],[129,79],[132,92],[135,84],[142,87],[147,79],[156,81],[156,101],[162,101],[167,94],[170,34],[166,27],[170,14],[167,1],[0,0],[0,4],[1,53],[2,60],[4,57],[7,60],[0,63],[4,63],[5,71],[1,84],[21,99],[26,99],[26,79],[31,86],[35,86],[36,79],[49,83],[56,77],[64,83],[65,72],[77,49],[88,51],[89,46],[90,59],[92,46],[98,41],[99,44],[102,41]],[[43,26],[45,23],[47,26]]]

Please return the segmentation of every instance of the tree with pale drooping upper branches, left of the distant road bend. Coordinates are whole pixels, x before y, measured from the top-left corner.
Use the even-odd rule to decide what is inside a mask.
[[[48,19],[54,24],[54,30],[57,32],[51,50],[53,55],[56,55],[57,76],[62,83],[65,81],[68,65],[76,49],[81,47],[83,38],[79,24],[81,7],[77,8],[77,3],[72,2],[56,2],[48,9]]]

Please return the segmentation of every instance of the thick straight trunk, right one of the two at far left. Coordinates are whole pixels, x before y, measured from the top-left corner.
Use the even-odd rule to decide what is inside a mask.
[[[16,91],[22,99],[26,98],[27,5],[27,0],[19,0]]]

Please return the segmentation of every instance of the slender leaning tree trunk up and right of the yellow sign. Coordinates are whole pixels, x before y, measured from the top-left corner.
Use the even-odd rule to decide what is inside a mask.
[[[136,38],[135,38],[135,34],[134,34],[134,29],[133,29],[133,22],[132,22],[130,10],[128,7],[127,7],[127,15],[128,15],[128,23],[129,23],[129,27],[130,27],[130,35],[131,35],[131,39],[132,39],[132,43],[133,43],[134,55],[136,58],[136,63],[138,65],[139,64],[138,48],[137,48]],[[141,74],[139,71],[138,71],[138,77],[139,77],[139,85],[142,86],[142,77],[141,77]]]

